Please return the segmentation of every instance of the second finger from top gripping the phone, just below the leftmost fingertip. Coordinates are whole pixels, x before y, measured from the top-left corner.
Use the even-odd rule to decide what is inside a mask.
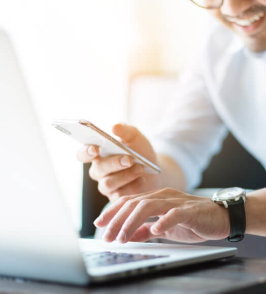
[[[89,175],[94,180],[99,180],[111,173],[131,167],[134,160],[127,155],[115,155],[107,158],[97,158],[92,161]]]

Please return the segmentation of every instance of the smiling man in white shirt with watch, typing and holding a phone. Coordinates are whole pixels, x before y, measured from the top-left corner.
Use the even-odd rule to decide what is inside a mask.
[[[266,189],[245,197],[232,188],[213,201],[180,192],[200,182],[228,129],[266,167],[266,0],[193,2],[209,9],[222,26],[213,28],[200,59],[182,75],[172,114],[153,142],[156,152],[136,128],[113,127],[123,143],[162,173],[144,174],[129,156],[100,158],[97,146],[78,152],[80,161],[92,162],[89,174],[112,202],[94,222],[107,226],[103,238],[108,242],[266,236]],[[145,223],[150,216],[159,219]]]

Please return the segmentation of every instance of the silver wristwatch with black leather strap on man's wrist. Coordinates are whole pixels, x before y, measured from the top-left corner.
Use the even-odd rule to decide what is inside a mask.
[[[212,201],[228,209],[231,229],[230,236],[226,240],[229,242],[243,240],[246,231],[246,191],[238,187],[222,189],[213,195]]]

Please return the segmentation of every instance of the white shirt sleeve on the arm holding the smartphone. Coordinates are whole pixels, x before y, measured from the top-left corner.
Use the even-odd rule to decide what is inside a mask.
[[[227,129],[200,72],[190,68],[178,83],[164,122],[151,141],[158,154],[170,156],[182,168],[189,191],[200,184],[202,172],[220,151]]]

